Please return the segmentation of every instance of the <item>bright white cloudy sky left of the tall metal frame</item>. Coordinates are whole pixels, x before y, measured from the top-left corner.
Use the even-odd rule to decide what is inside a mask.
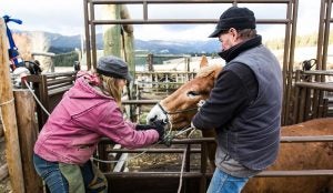
[[[6,1],[6,2],[4,2]],[[0,0],[0,16],[23,21],[10,28],[79,34],[83,31],[83,1],[79,0]]]

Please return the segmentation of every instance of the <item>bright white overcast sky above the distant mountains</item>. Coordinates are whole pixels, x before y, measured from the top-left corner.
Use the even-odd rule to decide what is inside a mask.
[[[309,34],[319,29],[320,0],[299,0],[297,34]],[[149,7],[152,19],[218,19],[231,4],[175,4]],[[240,3],[252,9],[258,19],[282,19],[285,6]],[[95,7],[97,19],[102,16]],[[142,4],[128,7],[132,19],[142,19]],[[63,35],[83,34],[83,0],[0,0],[0,16],[21,19],[21,26],[10,23],[11,29],[47,31]],[[208,40],[214,24],[135,24],[134,37],[141,40]],[[264,39],[284,35],[282,24],[259,24],[258,32]]]

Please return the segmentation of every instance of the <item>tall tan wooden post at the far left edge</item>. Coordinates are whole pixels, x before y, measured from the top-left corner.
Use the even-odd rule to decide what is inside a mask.
[[[0,18],[0,108],[4,131],[7,164],[12,191],[24,193],[17,116],[9,74],[8,48],[6,23],[3,19]]]

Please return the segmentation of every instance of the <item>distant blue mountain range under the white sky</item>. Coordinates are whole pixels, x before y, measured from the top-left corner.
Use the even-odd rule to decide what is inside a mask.
[[[59,33],[44,32],[50,41],[49,52],[64,53],[81,48],[80,35],[62,35]],[[97,34],[97,48],[103,49],[102,33]],[[154,54],[191,54],[219,52],[220,42],[215,39],[209,41],[165,41],[165,40],[134,40],[134,49]]]

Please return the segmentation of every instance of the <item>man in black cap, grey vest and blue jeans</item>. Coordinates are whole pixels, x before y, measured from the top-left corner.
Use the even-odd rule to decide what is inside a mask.
[[[254,13],[231,7],[210,38],[219,38],[226,64],[192,126],[215,129],[216,170],[208,193],[241,192],[271,165],[280,144],[282,74],[256,34]]]

